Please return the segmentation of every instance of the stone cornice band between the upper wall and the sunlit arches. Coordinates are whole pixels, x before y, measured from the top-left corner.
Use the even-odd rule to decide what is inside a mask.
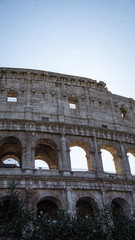
[[[44,122],[44,121],[36,121],[36,120],[25,120],[25,119],[5,119],[5,118],[1,118],[0,119],[0,124],[2,124],[2,130],[11,130],[11,128],[13,127],[13,125],[20,125],[21,126],[21,130],[22,131],[41,131],[44,132],[44,130],[39,129],[36,130],[36,126],[38,127],[46,127],[48,128],[46,131],[49,133],[50,132],[50,128],[53,128],[53,131],[51,131],[51,133],[62,133],[63,129],[65,129],[65,134],[68,135],[73,135],[73,130],[77,130],[77,131],[84,131],[83,136],[95,136],[97,138],[102,138],[102,139],[107,139],[108,136],[109,138],[113,139],[113,140],[119,140],[119,139],[126,139],[127,142],[133,142],[135,143],[135,134],[133,133],[127,133],[124,131],[120,131],[120,130],[116,130],[116,129],[104,129],[102,127],[97,127],[97,126],[88,126],[88,125],[75,125],[75,124],[67,124],[67,123],[60,123],[60,122]],[[22,128],[22,126],[24,126],[24,129]],[[31,127],[33,126],[33,128],[35,127],[35,130],[33,130]],[[55,129],[54,129],[55,128]],[[16,128],[17,129],[17,128]],[[26,130],[27,129],[27,130]],[[13,130],[15,131],[15,128],[13,128]],[[72,130],[72,131],[71,131]],[[20,130],[18,130],[20,131]],[[86,133],[85,133],[86,132]],[[76,131],[74,132],[74,135],[76,134]]]

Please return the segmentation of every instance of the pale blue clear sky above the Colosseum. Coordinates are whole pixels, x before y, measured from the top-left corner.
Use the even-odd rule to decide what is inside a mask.
[[[135,0],[0,0],[0,66],[102,80],[135,99]]]

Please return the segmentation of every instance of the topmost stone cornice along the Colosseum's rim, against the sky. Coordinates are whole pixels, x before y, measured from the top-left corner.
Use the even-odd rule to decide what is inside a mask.
[[[82,86],[107,91],[106,83],[97,82],[91,78],[67,75],[62,73],[48,72],[42,70],[21,69],[21,68],[0,68],[0,76],[12,76],[25,80],[51,81],[56,84]]]

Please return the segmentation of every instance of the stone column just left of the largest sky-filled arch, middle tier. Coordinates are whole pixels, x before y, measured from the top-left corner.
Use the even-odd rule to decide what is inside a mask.
[[[69,158],[67,156],[65,134],[61,135],[60,141],[61,141],[61,149],[62,149],[63,171],[71,171],[70,161],[69,161]]]

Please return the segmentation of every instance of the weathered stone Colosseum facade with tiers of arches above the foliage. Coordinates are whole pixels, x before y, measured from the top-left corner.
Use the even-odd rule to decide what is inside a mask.
[[[0,101],[0,196],[15,180],[36,214],[57,209],[93,214],[95,204],[111,203],[130,216],[135,207],[132,98],[89,78],[0,68]],[[74,147],[84,150],[87,169],[72,167]],[[114,172],[104,169],[103,150],[111,154]]]

